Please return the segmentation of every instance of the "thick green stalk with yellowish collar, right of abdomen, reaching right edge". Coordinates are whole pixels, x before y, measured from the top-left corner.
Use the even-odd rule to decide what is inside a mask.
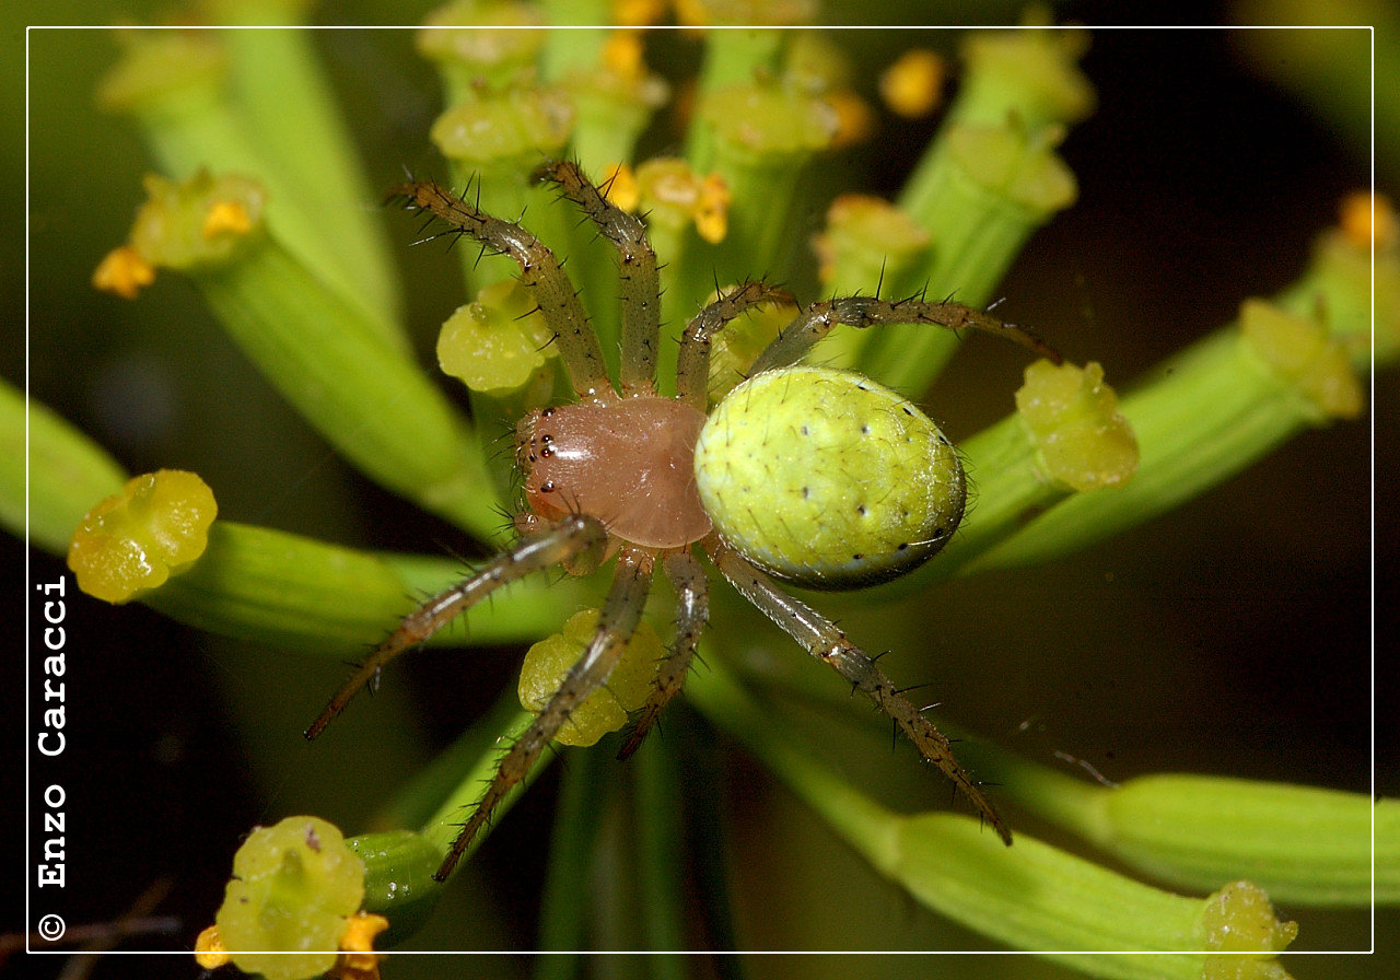
[[[1382,204],[1383,206],[1383,204]],[[1365,249],[1326,232],[1313,266],[1274,304],[1159,365],[1120,402],[1142,456],[1113,490],[1067,497],[998,547],[959,564],[974,573],[1044,561],[1117,533],[1204,493],[1298,433],[1362,412],[1358,371],[1392,364],[1400,336],[1400,252],[1378,242],[1376,344]],[[952,549],[949,549],[952,550]]]

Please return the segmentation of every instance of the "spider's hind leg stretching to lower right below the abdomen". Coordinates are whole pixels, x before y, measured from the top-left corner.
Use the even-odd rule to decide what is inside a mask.
[[[836,623],[778,589],[773,580],[749,564],[718,535],[707,538],[704,549],[721,574],[739,591],[739,595],[797,640],[806,652],[836,668],[843,678],[865,692],[881,711],[893,718],[895,724],[918,749],[918,753],[952,780],[981,818],[993,826],[997,836],[1005,844],[1011,844],[1011,827],[997,815],[967,770],[958,763],[948,738],[934,727],[934,722],[920,714],[909,699],[899,693],[899,689],[875,665],[869,654],[847,640]]]

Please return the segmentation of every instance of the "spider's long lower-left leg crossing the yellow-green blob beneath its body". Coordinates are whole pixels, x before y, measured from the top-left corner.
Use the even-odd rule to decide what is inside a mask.
[[[480,829],[490,822],[491,813],[501,799],[505,798],[511,787],[525,778],[539,755],[568,721],[573,710],[608,680],[608,675],[617,665],[627,640],[631,638],[641,620],[641,612],[647,605],[647,592],[651,588],[651,567],[652,556],[643,549],[629,546],[617,554],[617,571],[613,575],[608,599],[598,615],[598,629],[592,641],[568,668],[568,673],[564,675],[564,680],[554,696],[549,699],[545,710],[535,717],[533,724],[525,729],[519,741],[501,756],[496,776],[487,784],[486,792],[476,804],[476,809],[472,811],[472,816],[462,825],[461,833],[448,848],[447,857],[442,858],[442,865],[433,875],[437,881],[447,881],[447,876],[452,874],[452,868],[472,846],[472,840]]]

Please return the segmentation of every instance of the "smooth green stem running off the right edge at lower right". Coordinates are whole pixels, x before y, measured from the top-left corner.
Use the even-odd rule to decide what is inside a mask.
[[[826,678],[770,669],[745,679],[850,717]],[[689,690],[689,685],[687,685]],[[823,718],[830,717],[823,713]],[[861,724],[875,739],[875,729]],[[1277,902],[1319,907],[1372,900],[1372,801],[1364,794],[1194,774],[1091,784],[939,720],[958,757],[995,797],[1079,836],[1103,854],[1170,885],[1212,890],[1247,879]],[[1019,846],[1019,839],[1018,844]],[[1375,900],[1400,904],[1400,805],[1375,804]]]

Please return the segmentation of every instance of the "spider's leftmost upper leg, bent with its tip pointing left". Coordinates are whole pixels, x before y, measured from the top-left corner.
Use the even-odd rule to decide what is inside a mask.
[[[608,381],[598,333],[573,281],[545,242],[514,221],[493,217],[431,181],[405,183],[392,196],[407,197],[410,209],[428,210],[461,234],[515,259],[521,267],[519,281],[554,333],[564,370],[578,398],[587,402],[617,398]]]

